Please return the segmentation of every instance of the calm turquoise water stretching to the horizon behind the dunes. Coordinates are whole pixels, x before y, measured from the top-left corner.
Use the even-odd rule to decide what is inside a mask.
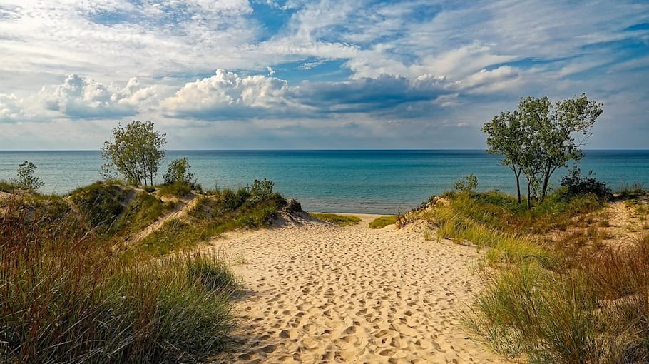
[[[581,168],[613,188],[649,186],[649,151],[586,151]],[[469,173],[479,189],[515,192],[513,173],[484,151],[168,151],[187,156],[204,188],[275,181],[284,196],[307,211],[397,213],[452,188]],[[15,176],[22,161],[36,163],[45,193],[67,193],[100,178],[98,151],[0,151],[0,179]],[[163,167],[161,169],[166,169]],[[556,172],[554,184],[563,171]],[[160,173],[160,175],[162,172]]]

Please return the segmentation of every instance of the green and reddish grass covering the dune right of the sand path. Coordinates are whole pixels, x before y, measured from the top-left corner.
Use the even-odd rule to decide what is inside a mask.
[[[649,234],[603,244],[594,196],[557,191],[532,211],[493,191],[446,196],[421,212],[438,238],[489,249],[485,288],[465,318],[476,337],[531,363],[649,360]]]

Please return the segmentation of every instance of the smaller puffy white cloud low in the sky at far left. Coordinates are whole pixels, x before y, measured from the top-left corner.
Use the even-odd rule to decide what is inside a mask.
[[[143,87],[135,78],[118,89],[71,74],[63,84],[43,86],[39,96],[47,110],[71,118],[110,118],[135,115],[156,94],[153,87]]]

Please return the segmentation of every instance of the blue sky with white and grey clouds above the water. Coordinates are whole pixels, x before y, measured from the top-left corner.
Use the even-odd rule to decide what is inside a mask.
[[[581,93],[588,148],[649,148],[649,1],[0,2],[0,150],[484,148]]]

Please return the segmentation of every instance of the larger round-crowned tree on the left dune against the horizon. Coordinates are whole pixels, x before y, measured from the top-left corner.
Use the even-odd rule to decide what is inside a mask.
[[[118,125],[113,129],[115,141],[106,141],[101,148],[101,156],[107,161],[102,168],[104,175],[117,170],[130,183],[153,186],[153,177],[165,157],[166,135],[153,130],[150,121],[133,121],[126,128]]]

